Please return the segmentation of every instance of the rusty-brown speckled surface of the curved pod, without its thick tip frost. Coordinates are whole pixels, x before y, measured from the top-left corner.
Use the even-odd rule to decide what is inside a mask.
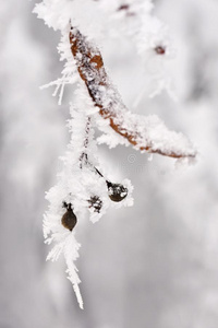
[[[181,151],[179,149],[171,151],[155,147],[152,140],[146,140],[146,136],[142,134],[138,119],[135,120],[134,115],[131,116],[134,130],[129,128],[128,119],[130,121],[131,114],[109,81],[100,51],[92,43],[87,42],[86,37],[76,28],[71,27],[69,37],[71,51],[75,59],[81,79],[85,82],[95,106],[99,108],[100,116],[105,119],[109,119],[110,127],[117,133],[125,138],[132,145],[138,148],[141,151],[175,159],[195,157],[196,152],[194,149],[189,149],[189,151]],[[100,89],[104,91],[100,92]],[[107,93],[107,91],[110,92]],[[106,101],[107,94],[110,95],[108,101]],[[142,145],[142,142],[138,142],[138,140],[143,140],[144,144]]]

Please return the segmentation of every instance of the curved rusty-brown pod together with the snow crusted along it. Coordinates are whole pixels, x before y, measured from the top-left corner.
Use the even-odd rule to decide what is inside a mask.
[[[78,73],[100,116],[109,121],[117,133],[141,151],[175,159],[195,157],[195,149],[182,133],[168,130],[155,115],[134,115],[125,107],[108,78],[96,46],[77,28],[71,27],[69,37]]]

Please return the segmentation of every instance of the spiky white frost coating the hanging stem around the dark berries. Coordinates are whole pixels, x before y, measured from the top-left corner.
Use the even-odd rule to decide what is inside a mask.
[[[132,206],[133,188],[129,180],[123,181],[129,194],[119,204],[114,204],[108,196],[106,178],[96,171],[96,168],[99,169],[99,163],[96,156],[97,145],[94,140],[94,129],[92,128],[96,108],[83,83],[75,92],[75,99],[74,104],[71,104],[70,114],[71,119],[68,126],[71,140],[65,155],[61,157],[63,167],[58,174],[58,184],[46,195],[50,206],[44,216],[44,236],[46,244],[55,244],[47,260],[57,261],[59,256],[63,254],[68,279],[73,284],[80,307],[83,308],[78,288],[81,281],[74,265],[78,258],[80,244],[75,239],[74,231],[66,230],[61,223],[61,218],[66,211],[63,204],[64,202],[72,204],[77,224],[86,213],[89,214],[89,220],[95,223],[111,206],[116,208]]]

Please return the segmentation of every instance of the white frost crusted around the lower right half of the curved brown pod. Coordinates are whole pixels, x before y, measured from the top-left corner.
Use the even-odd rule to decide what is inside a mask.
[[[180,132],[170,131],[158,116],[150,115],[145,117],[133,115],[123,108],[120,108],[120,110],[117,108],[117,113],[120,114],[114,119],[114,122],[125,128],[131,134],[135,134],[135,149],[138,150],[145,145],[152,145],[154,151],[160,150],[166,154],[181,153],[189,156],[195,153],[191,141]],[[130,145],[125,138],[111,131],[108,125],[101,126],[101,120],[100,117],[97,119],[99,130],[104,131],[104,134],[97,139],[99,144],[106,143],[109,148],[117,147],[118,144]],[[135,133],[136,131],[137,133]]]

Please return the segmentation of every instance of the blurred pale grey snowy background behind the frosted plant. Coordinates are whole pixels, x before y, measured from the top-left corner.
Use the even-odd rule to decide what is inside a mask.
[[[0,328],[217,328],[217,1],[155,1],[175,48],[166,74],[177,102],[165,90],[149,97],[156,72],[147,74],[131,39],[102,42],[128,107],[157,114],[189,136],[199,157],[177,167],[160,155],[150,161],[131,148],[100,147],[110,176],[132,180],[135,203],[77,229],[84,311],[64,262],[45,261],[45,191],[69,142],[71,87],[61,106],[51,89],[39,90],[60,77],[60,34],[33,8],[33,1],[15,0],[0,7]]]

